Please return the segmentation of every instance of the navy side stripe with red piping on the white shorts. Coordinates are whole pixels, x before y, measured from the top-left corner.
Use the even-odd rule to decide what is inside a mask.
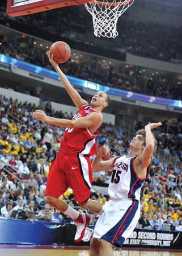
[[[101,239],[112,243],[115,246],[121,247],[125,241],[125,238],[122,237],[122,233],[128,229],[131,224],[137,209],[139,206],[139,201],[133,200],[132,205],[126,210],[124,216],[122,216],[121,220],[117,222],[112,229],[110,229],[107,233],[105,233]]]

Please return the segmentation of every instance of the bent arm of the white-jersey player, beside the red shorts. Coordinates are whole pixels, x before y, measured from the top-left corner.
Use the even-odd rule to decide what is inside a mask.
[[[113,160],[115,158],[111,158],[107,161],[100,161],[103,156],[109,156],[109,148],[106,146],[102,146],[98,152],[98,155],[92,161],[92,172],[102,172],[102,171],[109,171],[113,168]]]

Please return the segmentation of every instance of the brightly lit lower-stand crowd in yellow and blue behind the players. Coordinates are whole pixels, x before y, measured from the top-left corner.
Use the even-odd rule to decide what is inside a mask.
[[[9,99],[2,95],[0,101],[0,205],[2,216],[9,218],[12,210],[31,209],[40,220],[46,218],[70,222],[70,218],[64,213],[60,213],[44,203],[46,177],[52,160],[60,147],[64,129],[32,119],[32,112],[36,106],[31,103],[13,101],[12,98]],[[53,112],[50,102],[48,105],[45,110],[47,114],[58,118],[71,119],[73,117],[72,113]],[[12,116],[19,119],[19,122],[15,122]],[[165,125],[166,123],[164,123],[163,129],[166,129]],[[141,124],[142,126],[145,126],[145,122]],[[163,130],[161,129],[155,130],[158,145],[163,144],[164,150],[173,150],[173,154],[179,155],[180,151],[175,153],[175,143],[177,141],[181,143],[182,135],[177,133],[163,137]],[[163,138],[164,143],[162,143]],[[131,140],[132,137],[128,133],[123,133],[121,127],[103,123],[99,129],[96,143],[98,150],[102,145],[111,148],[111,157],[113,157],[127,154]],[[182,152],[179,160],[181,155]],[[92,161],[94,158],[95,155],[91,156],[90,160]],[[107,159],[109,158],[103,158],[103,160]],[[109,183],[111,171],[94,173],[93,181],[98,186],[99,183]],[[142,216],[138,222],[138,227],[162,228],[163,221],[164,223],[165,221],[171,223],[171,229],[173,226],[181,225],[181,196],[181,167],[163,162],[160,156],[154,153],[150,164],[150,176],[145,181],[141,191]],[[71,189],[68,189],[60,198],[66,200],[71,207],[80,212],[87,212],[87,210],[79,207],[79,204],[74,200]],[[107,200],[111,200],[108,195],[100,195],[99,189],[91,193],[91,198],[98,200],[103,205]],[[91,224],[95,224],[98,219],[97,214],[88,213],[91,214]]]

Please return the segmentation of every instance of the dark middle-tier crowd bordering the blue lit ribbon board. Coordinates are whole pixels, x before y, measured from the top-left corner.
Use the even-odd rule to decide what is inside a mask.
[[[5,37],[0,38],[0,53],[14,57],[15,59],[23,60],[28,63],[32,63],[35,65],[39,65],[46,69],[50,69],[54,71],[52,65],[50,65],[48,57],[45,56],[44,61],[40,61],[36,59],[35,49],[32,46],[28,48],[22,47],[19,43],[14,44],[12,41],[7,42]],[[122,72],[113,72],[112,69],[109,71],[109,75],[106,76],[104,74],[100,74],[97,71],[90,71],[87,65],[81,66],[79,69],[75,68],[74,64],[68,60],[64,65],[61,66],[62,71],[65,75],[77,77],[79,79],[95,82],[96,84],[101,84],[104,86],[109,86],[112,88],[128,90],[129,92],[136,92],[136,93],[146,93],[156,97],[162,98],[171,98],[175,100],[182,99],[182,92],[180,90],[181,81],[176,81],[174,84],[167,81],[166,78],[161,77],[152,77],[141,75],[141,73],[133,74],[136,77],[136,85],[132,85],[126,76]],[[147,82],[147,90],[144,92],[141,86],[139,86],[138,79],[140,77],[144,77]],[[5,88],[7,88],[5,86]],[[20,92],[20,89],[14,88],[11,86],[11,90],[16,90]],[[50,100],[59,102],[59,99],[52,98],[50,95],[44,95],[43,92],[36,94],[35,91],[28,89],[24,90],[23,93],[36,96],[41,98],[43,101]]]

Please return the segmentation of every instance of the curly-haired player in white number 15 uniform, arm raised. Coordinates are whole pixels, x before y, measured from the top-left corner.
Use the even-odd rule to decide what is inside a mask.
[[[108,193],[113,199],[104,206],[104,211],[96,222],[90,244],[90,256],[112,256],[112,245],[122,246],[130,236],[140,217],[140,191],[143,182],[149,176],[149,164],[156,140],[151,129],[162,125],[150,123],[145,129],[138,130],[130,143],[128,155],[118,156],[100,162],[109,155],[108,147],[101,147],[92,162],[92,171],[113,169],[109,181]]]

